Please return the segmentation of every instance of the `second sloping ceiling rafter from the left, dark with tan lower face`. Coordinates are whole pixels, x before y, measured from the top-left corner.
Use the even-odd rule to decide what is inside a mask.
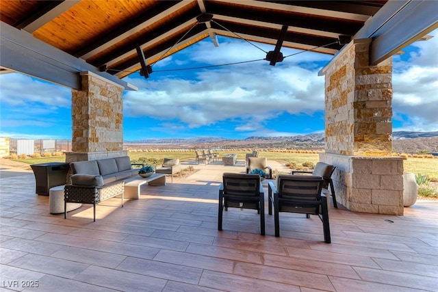
[[[83,59],[88,59],[100,51],[104,51],[105,49],[112,47],[114,44],[117,44],[118,42],[129,38],[133,34],[138,33],[138,31],[141,31],[142,29],[159,22],[165,16],[184,8],[186,5],[190,4],[190,1],[180,1],[176,4],[174,1],[159,1],[159,3],[159,7],[138,16],[138,18],[133,19],[132,21],[129,21],[127,25],[115,29],[111,34],[107,34],[99,40],[93,40],[92,43],[88,44],[87,47],[79,49],[72,55],[81,57]]]

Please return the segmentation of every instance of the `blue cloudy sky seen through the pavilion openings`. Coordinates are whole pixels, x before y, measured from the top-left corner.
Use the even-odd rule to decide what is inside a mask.
[[[438,31],[394,56],[393,131],[438,131]],[[274,46],[205,39],[153,65],[149,79],[125,80],[124,139],[127,141],[249,136],[289,136],[324,131],[324,77],[331,55],[281,49],[293,55],[267,61]],[[178,70],[175,70],[178,69]],[[172,71],[175,70],[175,71]],[[0,137],[71,139],[69,88],[18,73],[0,75]]]

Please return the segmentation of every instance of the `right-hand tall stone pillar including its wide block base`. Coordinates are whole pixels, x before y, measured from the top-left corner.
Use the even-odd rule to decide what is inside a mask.
[[[392,152],[392,59],[369,66],[370,39],[353,40],[323,70],[325,152],[338,201],[351,211],[403,214],[403,159]]]

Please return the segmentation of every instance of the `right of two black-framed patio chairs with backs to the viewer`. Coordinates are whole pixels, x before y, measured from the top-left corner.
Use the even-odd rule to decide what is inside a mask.
[[[331,243],[329,209],[327,198],[321,194],[324,179],[322,176],[280,174],[276,185],[268,182],[268,213],[272,215],[274,206],[275,236],[280,236],[279,212],[318,215],[322,221],[324,241]],[[273,195],[273,196],[272,196]]]

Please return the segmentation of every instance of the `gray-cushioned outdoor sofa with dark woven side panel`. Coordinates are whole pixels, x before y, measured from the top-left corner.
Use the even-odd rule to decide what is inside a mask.
[[[142,164],[131,164],[127,156],[70,163],[72,175],[64,187],[64,218],[68,202],[93,204],[94,221],[96,204],[103,200],[121,195],[123,207],[125,179],[138,175],[133,165]]]

